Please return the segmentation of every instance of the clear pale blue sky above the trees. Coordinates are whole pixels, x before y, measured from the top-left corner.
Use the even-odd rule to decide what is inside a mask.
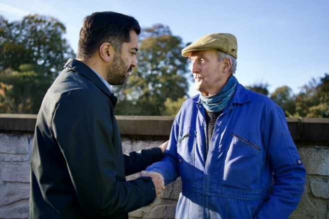
[[[9,21],[37,13],[65,24],[77,51],[85,16],[112,10],[142,27],[162,23],[184,43],[228,32],[238,40],[236,78],[242,85],[289,86],[297,94],[312,78],[329,73],[329,0],[0,0]],[[190,95],[197,94],[191,86]]]

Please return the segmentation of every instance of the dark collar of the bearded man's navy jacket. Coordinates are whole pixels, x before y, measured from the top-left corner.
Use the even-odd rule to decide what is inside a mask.
[[[96,75],[96,73],[91,68],[89,68],[86,64],[76,59],[69,59],[64,65],[64,68],[70,69],[86,77],[110,98],[113,106],[116,105],[118,101],[117,97],[115,97],[114,94],[111,93],[111,91],[108,89],[108,87],[106,87],[106,85],[104,84],[104,82],[102,82],[102,80],[98,77],[98,75]]]

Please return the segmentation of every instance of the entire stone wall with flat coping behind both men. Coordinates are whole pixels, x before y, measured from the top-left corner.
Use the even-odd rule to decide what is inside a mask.
[[[0,219],[27,219],[29,162],[35,115],[0,114]],[[165,142],[173,121],[163,116],[117,116],[124,152]],[[307,169],[302,201],[291,219],[329,219],[329,119],[288,118]],[[127,177],[128,180],[139,174]],[[166,186],[149,206],[130,219],[173,219],[181,182]]]

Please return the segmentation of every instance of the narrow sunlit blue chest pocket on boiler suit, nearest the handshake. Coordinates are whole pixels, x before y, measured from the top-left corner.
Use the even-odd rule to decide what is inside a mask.
[[[196,133],[191,127],[181,131],[177,140],[177,162],[182,181],[194,179],[194,144]]]

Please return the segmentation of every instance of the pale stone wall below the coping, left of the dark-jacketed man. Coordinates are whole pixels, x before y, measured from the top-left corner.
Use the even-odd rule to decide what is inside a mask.
[[[32,134],[0,133],[0,219],[28,214]]]

